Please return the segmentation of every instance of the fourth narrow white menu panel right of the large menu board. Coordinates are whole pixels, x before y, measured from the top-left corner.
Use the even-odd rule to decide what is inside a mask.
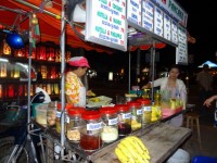
[[[171,18],[164,13],[164,38],[171,40]]]

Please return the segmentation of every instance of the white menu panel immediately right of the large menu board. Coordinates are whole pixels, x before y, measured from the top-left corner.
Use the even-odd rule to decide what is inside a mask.
[[[141,0],[127,1],[127,20],[141,25]]]

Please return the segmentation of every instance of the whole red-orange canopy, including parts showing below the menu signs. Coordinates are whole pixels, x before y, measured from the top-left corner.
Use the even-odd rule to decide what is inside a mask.
[[[47,8],[43,5],[43,0],[2,0],[0,14],[3,16],[0,16],[0,24],[10,27],[16,25],[20,29],[28,30],[27,13],[36,12],[37,8],[41,41],[53,41],[60,45],[62,0],[52,0],[51,2],[52,8]],[[46,12],[50,14],[44,14]],[[142,35],[142,37],[138,37],[137,39],[129,37],[128,41],[132,49],[142,46],[140,49],[146,50],[152,46],[153,38],[149,35]],[[188,34],[188,41],[194,43],[195,39]],[[66,43],[73,48],[85,48],[86,50],[95,50],[98,52],[113,52],[113,49],[80,40],[68,24],[66,25]],[[144,46],[146,46],[146,49]],[[156,41],[157,46],[163,48],[166,45]]]

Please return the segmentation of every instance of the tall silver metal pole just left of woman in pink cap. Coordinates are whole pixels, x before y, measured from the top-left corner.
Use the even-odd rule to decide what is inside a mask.
[[[61,12],[61,158],[64,158],[65,142],[65,0],[62,0]]]

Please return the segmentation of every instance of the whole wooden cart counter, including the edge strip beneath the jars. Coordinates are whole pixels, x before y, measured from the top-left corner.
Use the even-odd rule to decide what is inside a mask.
[[[177,113],[176,115],[179,115]],[[176,116],[174,115],[174,116]],[[174,117],[171,116],[171,117]],[[170,117],[170,118],[171,118]],[[169,117],[168,117],[169,120]],[[168,159],[191,135],[191,129],[183,127],[174,127],[164,122],[152,123],[142,127],[142,129],[135,131],[130,135],[138,136],[146,148],[150,151],[151,161],[150,163],[162,163]],[[38,125],[37,125],[38,126]],[[39,125],[40,126],[40,125]],[[44,133],[44,137],[52,141],[60,141],[60,135],[56,134],[53,129],[49,129],[40,126]],[[69,143],[66,141],[66,149],[76,152],[87,162],[91,161],[93,163],[119,163],[117,160],[114,150],[119,143],[119,140],[116,140],[113,143],[104,145],[100,150],[97,150],[92,153],[87,153],[81,150],[77,145]]]

